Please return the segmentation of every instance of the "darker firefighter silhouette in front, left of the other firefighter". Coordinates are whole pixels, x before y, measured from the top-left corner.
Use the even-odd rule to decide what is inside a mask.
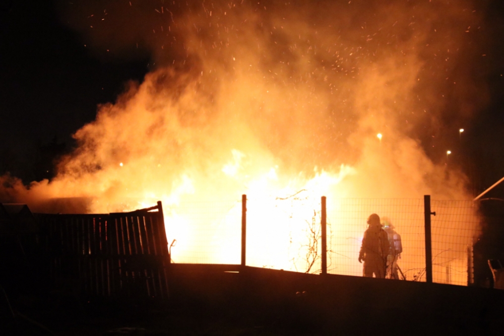
[[[382,229],[380,216],[371,214],[367,218],[368,228],[362,238],[359,262],[364,260],[363,276],[385,278],[387,272],[387,256],[389,253],[389,237]]]

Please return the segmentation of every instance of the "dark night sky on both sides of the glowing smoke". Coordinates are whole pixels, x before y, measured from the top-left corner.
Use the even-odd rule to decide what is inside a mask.
[[[153,57],[141,46],[127,56],[90,50],[64,22],[62,4],[0,2],[0,174],[10,172],[25,183],[52,177],[48,164],[75,146],[72,134],[94,120],[97,106],[114,102],[125,83],[141,82],[153,69]],[[446,159],[436,142],[451,144],[448,164],[466,172],[475,195],[504,176],[504,5],[478,6],[490,38],[481,50],[487,103],[467,124],[445,120],[442,139],[420,139],[433,162]],[[459,138],[460,127],[465,131]],[[504,197],[503,191],[500,186],[489,195]]]

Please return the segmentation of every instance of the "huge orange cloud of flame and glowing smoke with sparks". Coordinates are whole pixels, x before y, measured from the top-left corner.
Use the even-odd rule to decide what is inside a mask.
[[[225,229],[202,243],[211,262],[238,261],[239,240],[222,232],[239,235],[247,194],[249,239],[264,242],[250,262],[285,269],[322,195],[468,199],[465,177],[423,149],[447,97],[465,116],[480,101],[458,67],[476,57],[468,4],[65,5],[98,55],[140,44],[156,65],[75,133],[79,147],[56,178],[7,192],[35,210],[40,199],[88,197],[98,213],[160,199],[179,261],[194,257],[202,221],[184,204],[207,204],[206,225]],[[271,240],[279,235],[288,243]]]

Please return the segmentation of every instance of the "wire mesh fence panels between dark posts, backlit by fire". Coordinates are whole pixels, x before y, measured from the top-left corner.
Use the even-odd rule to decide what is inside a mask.
[[[472,246],[480,233],[478,204],[432,200],[432,280],[472,281]],[[289,197],[247,198],[246,265],[322,272],[321,198],[301,190]],[[177,263],[239,264],[241,199],[166,207],[171,256]],[[378,214],[400,235],[399,279],[426,281],[424,199],[327,199],[327,273],[362,276],[358,261],[366,219]],[[176,240],[176,242],[174,242]]]

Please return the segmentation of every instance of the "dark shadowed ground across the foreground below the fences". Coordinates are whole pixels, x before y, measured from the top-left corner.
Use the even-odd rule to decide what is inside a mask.
[[[494,289],[204,265],[176,265],[170,279],[158,302],[19,296],[13,309],[32,321],[2,324],[20,335],[500,335],[504,322]]]

